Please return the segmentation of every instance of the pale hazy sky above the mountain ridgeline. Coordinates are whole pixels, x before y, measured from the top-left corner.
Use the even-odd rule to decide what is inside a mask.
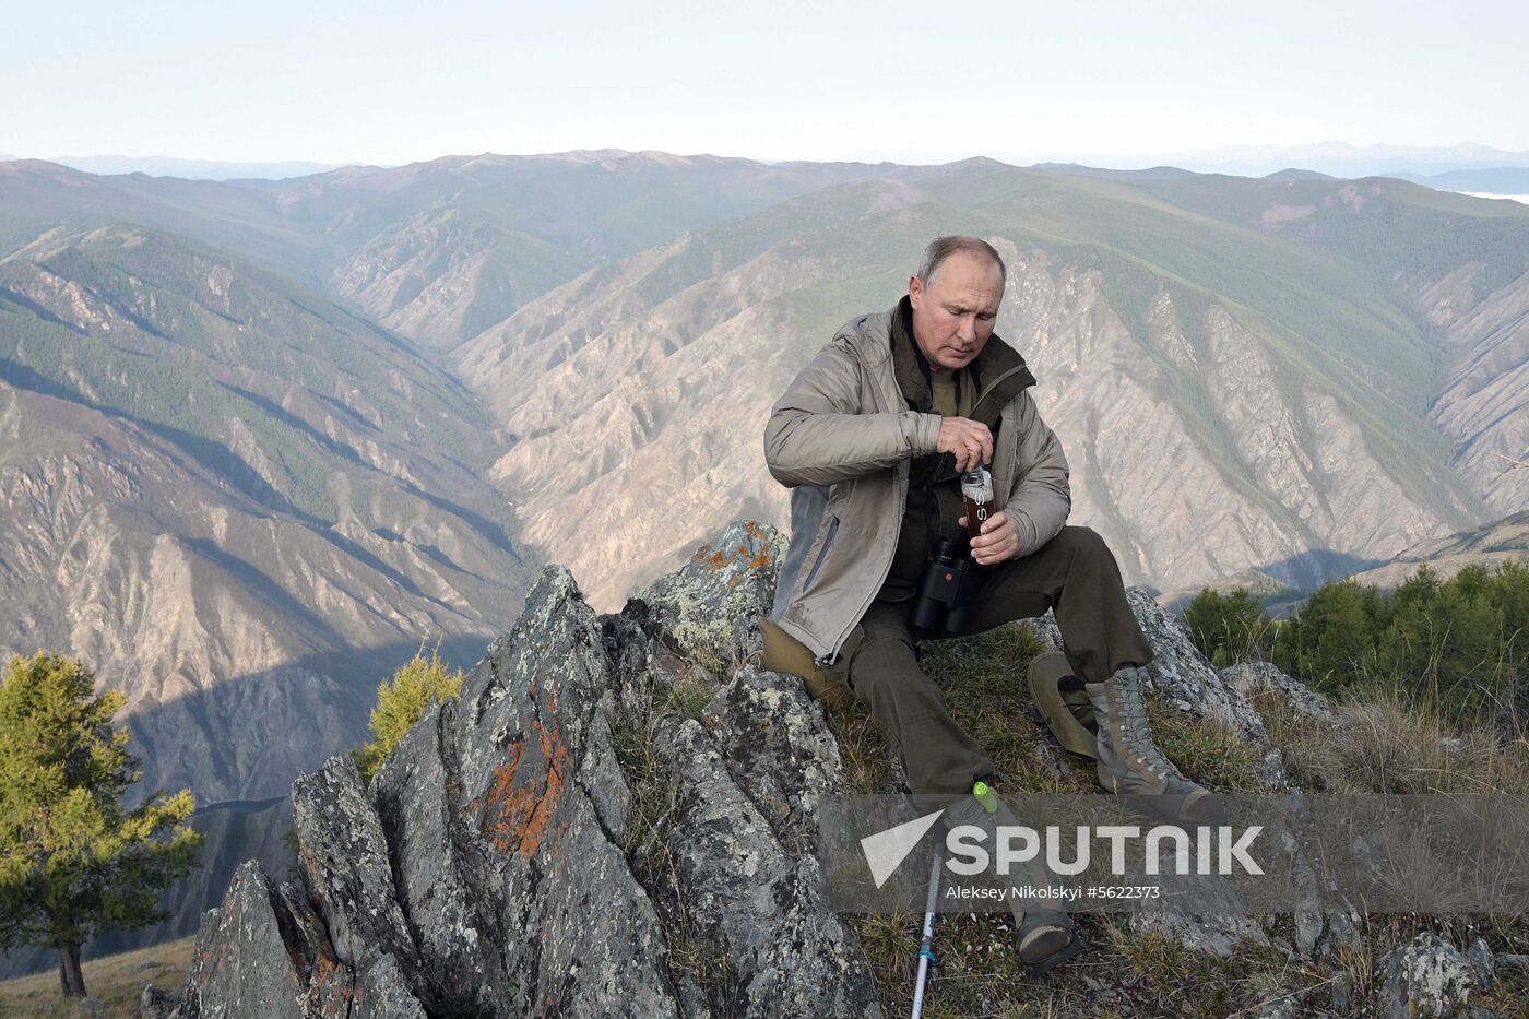
[[[1529,3],[6,0],[0,153],[1529,150]]]

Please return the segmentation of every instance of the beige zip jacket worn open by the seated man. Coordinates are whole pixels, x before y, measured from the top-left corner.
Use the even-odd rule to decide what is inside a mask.
[[[846,323],[790,383],[764,425],[764,462],[794,490],[792,540],[774,618],[820,666],[833,661],[887,580],[911,459],[937,451],[939,415],[908,410],[898,389],[893,314]],[[983,393],[1012,372],[1034,383],[1024,361],[998,337],[994,343],[1011,367],[983,378]],[[1027,386],[1003,407],[991,470],[998,506],[1018,528],[1020,555],[1061,531],[1072,508],[1067,461]]]

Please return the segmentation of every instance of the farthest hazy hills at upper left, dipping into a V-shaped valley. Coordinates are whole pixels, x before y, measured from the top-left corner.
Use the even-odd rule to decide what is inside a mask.
[[[92,176],[0,162],[6,220],[139,223],[231,251],[431,346],[451,346],[601,262],[781,199],[896,168],[619,150],[445,156],[287,181]]]

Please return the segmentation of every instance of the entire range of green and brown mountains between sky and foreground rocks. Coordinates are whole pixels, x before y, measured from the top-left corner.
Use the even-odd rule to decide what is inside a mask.
[[[1309,586],[1529,503],[1529,208],[1393,179],[616,150],[289,181],[0,164],[0,649],[128,693],[154,783],[284,791],[528,571],[601,607],[784,522],[769,402],[989,237],[1075,520]]]

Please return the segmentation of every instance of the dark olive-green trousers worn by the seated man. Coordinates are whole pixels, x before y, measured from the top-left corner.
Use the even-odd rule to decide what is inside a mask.
[[[1104,682],[1124,666],[1151,661],[1115,555],[1090,528],[1063,528],[1031,555],[985,572],[966,633],[1053,609],[1063,650],[1084,682]],[[827,673],[870,710],[887,745],[901,754],[913,793],[969,793],[974,782],[992,780],[992,759],[950,716],[945,693],[924,675],[914,650],[920,636],[956,635],[914,633],[911,607],[911,601],[873,601]],[[1018,670],[1014,681],[1021,682]]]

